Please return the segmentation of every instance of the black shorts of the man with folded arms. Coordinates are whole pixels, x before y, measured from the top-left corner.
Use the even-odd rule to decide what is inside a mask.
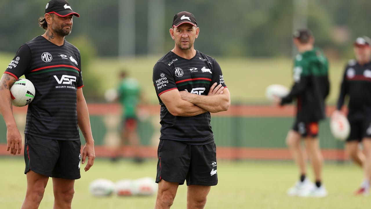
[[[184,184],[184,180],[187,180],[187,185],[215,186],[218,183],[214,142],[207,145],[187,145],[162,139],[157,153],[156,183],[161,179],[180,185]]]

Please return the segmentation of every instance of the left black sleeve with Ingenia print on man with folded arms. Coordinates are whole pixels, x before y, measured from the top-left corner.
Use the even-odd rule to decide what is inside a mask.
[[[166,91],[178,89],[175,84],[174,72],[162,62],[157,62],[153,67],[152,80],[157,96]]]

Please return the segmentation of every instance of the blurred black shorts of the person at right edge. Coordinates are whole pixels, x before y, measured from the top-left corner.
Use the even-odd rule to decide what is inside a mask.
[[[347,142],[360,142],[365,137],[371,137],[371,118],[350,122],[350,134]]]

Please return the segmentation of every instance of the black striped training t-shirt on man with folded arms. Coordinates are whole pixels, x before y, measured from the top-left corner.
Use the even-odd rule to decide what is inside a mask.
[[[199,51],[190,60],[168,52],[153,68],[153,84],[161,105],[160,139],[182,141],[189,145],[204,145],[214,141],[210,112],[192,117],[174,116],[160,99],[166,91],[178,89],[207,95],[213,83],[226,87],[217,61]]]

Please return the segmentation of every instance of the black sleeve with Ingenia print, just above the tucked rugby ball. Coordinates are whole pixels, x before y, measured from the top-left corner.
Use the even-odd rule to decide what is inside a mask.
[[[17,51],[13,60],[10,62],[4,73],[10,74],[19,79],[29,71],[31,65],[31,50],[29,46],[23,44]]]

